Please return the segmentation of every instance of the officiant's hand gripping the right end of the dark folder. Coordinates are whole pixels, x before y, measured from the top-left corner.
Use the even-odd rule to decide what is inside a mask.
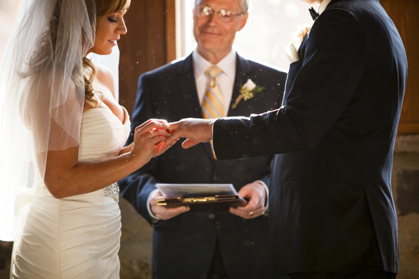
[[[243,186],[238,192],[240,197],[248,199],[246,206],[230,207],[230,213],[244,219],[256,218],[262,215],[266,200],[265,186],[257,181]]]

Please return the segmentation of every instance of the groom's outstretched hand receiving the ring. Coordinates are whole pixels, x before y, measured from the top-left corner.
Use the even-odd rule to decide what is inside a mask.
[[[170,137],[161,146],[171,146],[181,137],[186,138],[182,143],[184,149],[188,149],[200,142],[210,142],[212,140],[212,125],[216,119],[193,119],[187,118],[177,122],[169,123]]]

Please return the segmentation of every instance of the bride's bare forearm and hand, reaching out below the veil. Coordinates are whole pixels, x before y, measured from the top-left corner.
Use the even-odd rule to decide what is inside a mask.
[[[152,134],[149,130],[157,128]],[[78,163],[78,146],[64,151],[48,151],[45,186],[58,198],[90,193],[104,188],[147,163],[159,150],[159,142],[168,137],[168,124],[149,120],[135,129],[134,142],[128,153],[96,163]]]

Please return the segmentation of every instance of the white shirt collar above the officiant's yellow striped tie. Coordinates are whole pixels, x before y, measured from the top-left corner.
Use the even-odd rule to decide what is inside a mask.
[[[235,75],[235,64],[236,64],[236,51],[234,47],[231,48],[230,52],[216,63],[216,66],[223,70],[223,73],[228,75],[229,77]],[[199,52],[198,50],[193,50],[192,52],[192,59],[193,59],[193,69],[195,71],[195,75],[199,77],[200,75],[205,75],[205,70],[208,67],[212,66],[210,61],[207,61]]]

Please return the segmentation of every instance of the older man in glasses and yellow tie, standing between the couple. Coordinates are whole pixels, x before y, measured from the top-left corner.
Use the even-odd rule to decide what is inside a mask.
[[[233,48],[248,8],[248,0],[196,1],[196,50],[140,76],[133,129],[149,118],[247,116],[281,105],[286,73],[245,59]],[[122,196],[154,227],[153,278],[280,278],[267,242],[271,162],[272,156],[216,160],[211,143],[187,151],[178,143],[120,181]],[[161,197],[156,182],[233,183],[249,203],[229,211],[167,209],[156,204]]]

